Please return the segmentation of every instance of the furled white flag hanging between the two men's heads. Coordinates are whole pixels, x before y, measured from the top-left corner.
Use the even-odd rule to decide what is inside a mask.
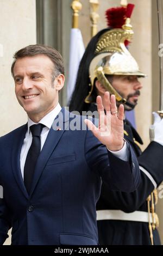
[[[74,86],[76,84],[79,63],[83,57],[84,51],[85,51],[85,48],[84,48],[82,33],[80,32],[80,29],[72,28],[71,36],[70,36],[70,60],[69,60],[68,82],[67,82],[67,103],[71,99]]]

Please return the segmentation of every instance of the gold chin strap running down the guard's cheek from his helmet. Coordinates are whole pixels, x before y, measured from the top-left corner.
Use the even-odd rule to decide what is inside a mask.
[[[103,72],[103,68],[102,66],[100,66],[97,71],[96,71],[96,75],[97,75],[97,79],[99,82],[101,82],[101,84],[103,84],[103,86],[105,87],[105,89],[110,93],[110,94],[114,94],[116,97],[116,101],[118,103],[122,103],[124,106],[128,106],[132,109],[134,109],[135,105],[128,102],[126,99],[124,99],[115,89],[114,87],[112,87],[111,83],[108,81],[108,79],[105,77],[105,74]],[[126,109],[127,110],[127,109]],[[129,109],[128,109],[129,110]]]

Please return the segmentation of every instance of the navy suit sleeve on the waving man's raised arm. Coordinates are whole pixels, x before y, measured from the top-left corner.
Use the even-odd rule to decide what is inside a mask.
[[[127,142],[129,161],[114,156],[87,131],[85,140],[86,161],[90,169],[102,177],[111,190],[131,192],[139,186],[140,170],[136,155]]]

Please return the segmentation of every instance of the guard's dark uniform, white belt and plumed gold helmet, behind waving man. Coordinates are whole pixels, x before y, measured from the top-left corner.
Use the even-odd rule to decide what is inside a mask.
[[[125,15],[127,9],[123,9]],[[126,111],[135,107],[136,103],[123,97],[123,88],[117,92],[112,86],[116,77],[145,77],[126,47],[133,36],[133,29],[127,15],[124,20],[126,22],[122,28],[103,29],[87,45],[80,62],[70,111],[89,111],[90,114],[90,111],[97,109],[96,96],[102,96],[97,89],[97,81],[105,91],[115,94],[117,107],[120,103],[123,103]],[[156,187],[163,180],[162,130],[163,119],[155,113],[153,141],[141,152],[141,137],[130,122],[124,120],[124,138],[128,139],[137,155],[141,183],[131,193],[110,191],[106,184],[102,184],[97,203],[100,245],[160,245],[155,204],[158,202]]]

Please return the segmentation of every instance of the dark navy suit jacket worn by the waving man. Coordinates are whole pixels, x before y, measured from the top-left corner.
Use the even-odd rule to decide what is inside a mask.
[[[12,227],[12,245],[97,245],[96,203],[102,180],[116,191],[131,192],[139,185],[139,164],[129,143],[129,161],[122,161],[91,131],[69,129],[71,121],[82,117],[70,117],[64,108],[61,113],[64,129],[52,126],[49,131],[30,195],[20,169],[27,124],[0,138],[1,244]]]

